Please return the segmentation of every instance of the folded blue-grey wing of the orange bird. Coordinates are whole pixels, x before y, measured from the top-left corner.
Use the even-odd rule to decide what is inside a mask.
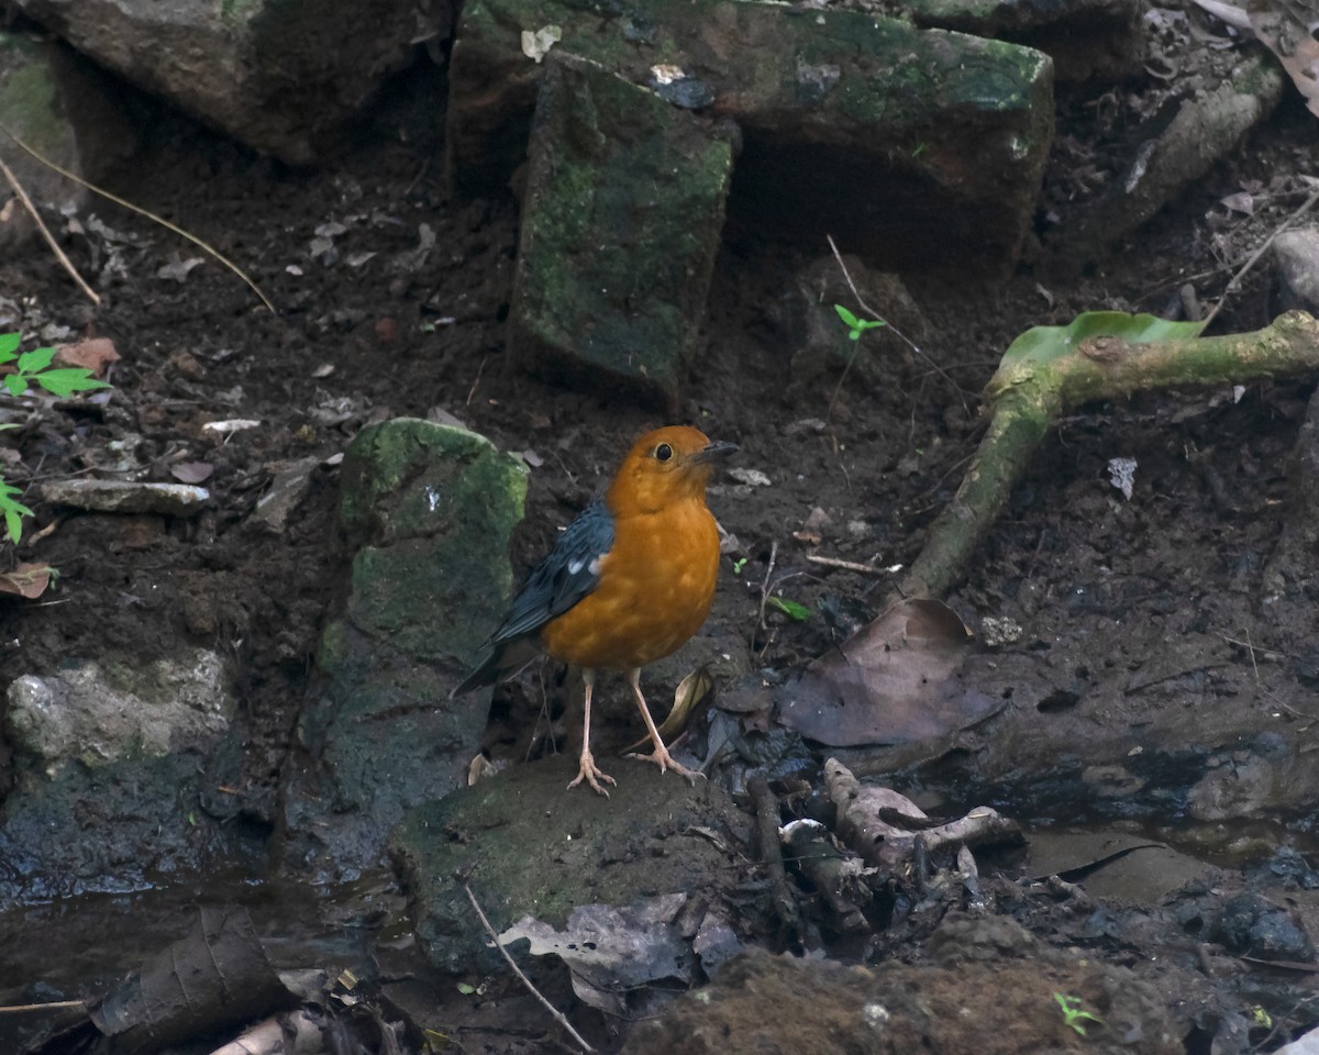
[[[549,557],[532,572],[513,599],[508,616],[491,634],[488,651],[463,682],[455,695],[481,684],[491,684],[509,669],[529,658],[526,642],[557,616],[587,596],[600,582],[600,558],[613,546],[613,516],[604,498],[595,498],[559,535]],[[513,654],[518,654],[513,659]]]

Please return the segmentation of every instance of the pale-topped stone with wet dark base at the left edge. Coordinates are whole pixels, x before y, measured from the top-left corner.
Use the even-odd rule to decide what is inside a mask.
[[[5,717],[16,783],[0,816],[0,903],[260,866],[264,840],[207,810],[232,797],[212,777],[215,760],[241,753],[231,680],[204,649],[17,678]]]

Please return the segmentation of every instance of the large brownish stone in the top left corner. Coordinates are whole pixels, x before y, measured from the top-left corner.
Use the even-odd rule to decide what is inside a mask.
[[[415,0],[20,0],[22,12],[145,91],[305,165],[412,57],[447,34]],[[364,32],[365,30],[365,32]]]

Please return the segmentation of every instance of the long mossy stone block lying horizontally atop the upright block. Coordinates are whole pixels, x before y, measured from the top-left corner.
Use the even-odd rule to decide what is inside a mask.
[[[1053,136],[1053,63],[1039,51],[786,4],[642,0],[619,13],[472,0],[450,74],[462,186],[489,187],[521,162],[545,65],[517,28],[550,26],[553,50],[736,121],[731,212],[816,245],[834,232],[894,264],[1001,266],[1020,248]]]

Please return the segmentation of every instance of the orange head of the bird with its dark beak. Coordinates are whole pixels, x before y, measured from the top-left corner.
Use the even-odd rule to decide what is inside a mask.
[[[736,443],[710,440],[699,429],[670,425],[646,433],[623,459],[605,504],[616,517],[658,513],[674,502],[704,502],[714,462],[737,450]]]

